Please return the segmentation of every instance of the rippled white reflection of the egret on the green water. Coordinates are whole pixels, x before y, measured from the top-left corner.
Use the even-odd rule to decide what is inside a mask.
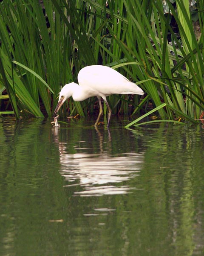
[[[103,134],[98,128],[95,128],[99,137],[100,151],[98,154],[90,154],[87,152],[87,148],[82,147],[75,148],[80,151],[79,153],[68,154],[68,144],[59,142],[57,139],[59,129],[53,130],[56,137],[55,142],[59,145],[61,163],[59,172],[69,183],[65,187],[81,186],[82,188],[82,191],[74,192],[74,195],[116,195],[125,194],[131,192],[132,189],[136,189],[124,185],[124,182],[139,176],[143,163],[142,153],[111,154],[104,151]],[[111,132],[109,129],[103,129],[103,132],[108,132],[107,143],[109,143],[108,148],[111,151]]]

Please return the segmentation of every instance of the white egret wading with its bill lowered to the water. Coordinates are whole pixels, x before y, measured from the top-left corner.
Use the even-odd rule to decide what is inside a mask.
[[[103,113],[101,98],[104,100],[108,108],[108,123],[109,126],[111,118],[111,108],[108,105],[106,96],[111,94],[139,94],[144,92],[136,84],[128,80],[111,67],[92,65],[82,68],[78,74],[79,84],[74,82],[65,84],[59,93],[59,101],[54,111],[54,116],[57,114],[62,104],[66,99],[72,96],[74,101],[83,101],[89,97],[96,96],[99,100],[99,115],[96,120],[97,126],[99,119]],[[56,118],[55,118],[56,121]]]

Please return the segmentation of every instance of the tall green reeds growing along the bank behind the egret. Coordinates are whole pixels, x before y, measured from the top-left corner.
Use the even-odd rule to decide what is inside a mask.
[[[164,15],[161,1],[108,1],[108,6],[105,1],[91,0],[45,0],[43,6],[32,0],[26,4],[23,0],[3,1],[1,86],[6,87],[16,116],[18,110],[21,115],[51,116],[60,85],[76,81],[79,69],[86,65],[103,64],[140,83],[147,93],[142,101],[140,96],[110,96],[113,113],[128,113],[130,104],[136,107],[139,103],[136,111],[146,110],[151,103],[161,119],[195,122],[204,110],[204,14],[197,3],[198,39],[188,0],[176,1],[176,11],[166,2],[170,12]],[[33,72],[22,65],[12,70],[13,60]],[[162,103],[165,108],[159,107]],[[94,99],[80,103],[70,99],[68,110],[84,116],[94,112],[94,104]]]

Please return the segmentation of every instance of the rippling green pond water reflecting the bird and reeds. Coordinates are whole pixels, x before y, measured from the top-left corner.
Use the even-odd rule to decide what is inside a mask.
[[[204,255],[201,127],[0,121],[0,256]]]

